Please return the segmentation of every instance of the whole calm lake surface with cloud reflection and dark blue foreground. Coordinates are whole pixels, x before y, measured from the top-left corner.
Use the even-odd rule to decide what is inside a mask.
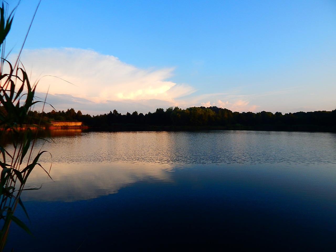
[[[336,134],[53,134],[7,251],[336,250]]]

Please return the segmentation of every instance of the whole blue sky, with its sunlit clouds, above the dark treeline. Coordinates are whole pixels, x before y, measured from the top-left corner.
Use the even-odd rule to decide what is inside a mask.
[[[38,2],[16,10],[12,58]],[[24,48],[33,81],[74,84],[40,80],[56,110],[336,109],[333,0],[42,0]]]

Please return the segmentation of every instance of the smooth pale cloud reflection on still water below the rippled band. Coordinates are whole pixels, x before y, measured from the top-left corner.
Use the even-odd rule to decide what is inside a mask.
[[[47,164],[44,167],[48,167]],[[42,169],[35,169],[26,184],[40,190],[26,191],[24,201],[89,200],[118,193],[129,184],[143,180],[171,181],[169,165],[157,163],[56,163],[50,172],[54,181]]]

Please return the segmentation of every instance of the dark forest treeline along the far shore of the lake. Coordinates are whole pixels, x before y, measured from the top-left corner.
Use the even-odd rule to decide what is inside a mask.
[[[296,112],[282,114],[261,111],[232,112],[218,107],[191,107],[180,109],[170,107],[156,109],[147,114],[134,111],[122,115],[117,110],[96,116],[83,115],[81,111],[52,110],[48,113],[30,111],[31,120],[40,120],[45,124],[51,121],[80,121],[90,128],[101,130],[294,130],[336,132],[336,109],[333,111]]]

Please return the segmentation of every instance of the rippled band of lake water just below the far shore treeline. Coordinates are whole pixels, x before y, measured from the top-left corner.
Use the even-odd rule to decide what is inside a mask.
[[[336,164],[336,134],[317,132],[87,132],[46,143],[53,162]],[[45,157],[46,162],[50,158]]]

